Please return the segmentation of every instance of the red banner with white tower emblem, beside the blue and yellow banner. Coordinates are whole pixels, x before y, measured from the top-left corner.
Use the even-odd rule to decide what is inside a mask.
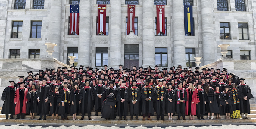
[[[164,28],[164,5],[157,5],[156,6],[156,16],[157,16],[157,30],[156,33],[163,32],[165,34],[165,28]]]

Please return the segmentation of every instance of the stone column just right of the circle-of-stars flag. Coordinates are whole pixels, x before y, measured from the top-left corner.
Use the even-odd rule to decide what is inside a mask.
[[[91,0],[81,0],[79,7],[78,65],[90,66]]]

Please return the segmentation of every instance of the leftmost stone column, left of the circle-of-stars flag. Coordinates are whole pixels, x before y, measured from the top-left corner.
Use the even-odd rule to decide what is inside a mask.
[[[51,0],[48,42],[55,43],[52,56],[60,59],[62,0]]]

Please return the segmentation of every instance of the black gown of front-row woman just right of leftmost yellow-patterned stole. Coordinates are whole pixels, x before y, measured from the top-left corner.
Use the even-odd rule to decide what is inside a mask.
[[[80,98],[80,89],[72,89],[70,92],[70,115],[76,113],[78,115],[81,112],[79,98]],[[74,105],[72,104],[74,102]]]

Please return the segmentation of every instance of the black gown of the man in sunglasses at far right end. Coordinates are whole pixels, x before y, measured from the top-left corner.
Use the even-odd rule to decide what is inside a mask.
[[[241,104],[241,113],[251,113],[251,108],[250,108],[250,101],[249,99],[254,98],[251,94],[251,89],[249,87],[249,85],[237,85],[236,87],[238,90],[238,97],[240,100],[240,104]],[[244,100],[243,97],[247,96],[247,100]]]

